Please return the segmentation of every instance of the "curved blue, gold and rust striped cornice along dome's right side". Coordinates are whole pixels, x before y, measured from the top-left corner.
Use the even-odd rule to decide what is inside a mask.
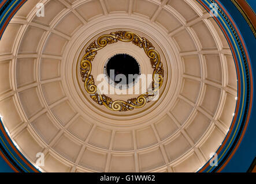
[[[207,11],[211,11],[212,3],[218,5],[218,16],[214,17],[218,25],[224,32],[236,63],[238,75],[238,104],[236,105],[235,116],[229,129],[228,135],[217,151],[218,166],[210,166],[209,162],[203,166],[200,172],[221,171],[235,154],[241,143],[250,118],[251,107],[253,104],[253,74],[251,70],[250,57],[244,44],[243,37],[238,27],[228,14],[220,1],[198,0]]]

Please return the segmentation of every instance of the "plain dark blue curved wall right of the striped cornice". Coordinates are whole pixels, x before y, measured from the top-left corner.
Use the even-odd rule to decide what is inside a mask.
[[[254,10],[256,10],[256,0],[247,0],[248,3]],[[248,49],[250,59],[251,59],[251,67],[253,68],[253,81],[256,82],[256,38],[254,37],[253,32],[248,26],[246,20],[244,20],[242,14],[238,13],[238,9],[233,5],[231,1],[222,0],[222,5],[224,5],[229,14],[231,14],[232,18],[236,21],[236,25],[240,29],[242,33],[243,39],[246,43],[246,47]],[[244,135],[242,143],[239,145],[238,150],[233,155],[232,159],[229,161],[227,166],[222,170],[222,172],[246,172],[250,167],[256,156],[256,104],[255,104],[255,96],[256,91],[254,87],[254,99],[253,99],[253,109],[251,112],[250,121],[247,127],[247,131]]]

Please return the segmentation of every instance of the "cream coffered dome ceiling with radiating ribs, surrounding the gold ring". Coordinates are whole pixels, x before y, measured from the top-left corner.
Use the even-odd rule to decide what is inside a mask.
[[[119,31],[149,40],[164,69],[158,99],[122,112],[90,98],[80,75],[90,43]],[[117,41],[91,62],[97,85],[120,53],[153,73],[143,48]],[[224,34],[194,0],[28,0],[0,41],[0,74],[3,124],[31,163],[44,154],[45,172],[198,171],[227,135],[238,91]]]

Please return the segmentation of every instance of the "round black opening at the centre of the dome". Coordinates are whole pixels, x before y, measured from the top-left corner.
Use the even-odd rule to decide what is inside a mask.
[[[112,75],[111,71],[112,70]],[[136,59],[128,54],[120,53],[110,57],[109,61],[106,64],[107,75],[115,83],[128,84],[134,82],[136,78],[140,75],[139,63]],[[114,74],[114,75],[113,75]],[[125,75],[127,81],[122,81],[118,79],[118,74]],[[131,79],[131,75],[134,77]],[[130,77],[130,79],[129,79]]]

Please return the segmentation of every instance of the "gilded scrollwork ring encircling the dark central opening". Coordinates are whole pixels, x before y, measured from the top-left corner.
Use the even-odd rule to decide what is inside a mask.
[[[140,94],[137,98],[128,99],[127,101],[115,100],[101,94],[94,82],[94,77],[91,75],[92,61],[97,55],[97,51],[106,47],[108,44],[117,43],[117,41],[132,42],[139,48],[143,48],[146,55],[150,58],[151,67],[154,69],[152,75],[152,85],[146,93]],[[155,50],[153,44],[144,37],[138,34],[127,31],[117,31],[110,34],[103,34],[97,40],[86,48],[86,53],[80,62],[81,79],[84,82],[84,89],[90,94],[90,97],[98,105],[104,105],[107,109],[113,111],[128,111],[136,108],[142,108],[147,102],[154,100],[158,94],[158,90],[164,82],[164,67],[161,62],[161,57],[158,51]]]

